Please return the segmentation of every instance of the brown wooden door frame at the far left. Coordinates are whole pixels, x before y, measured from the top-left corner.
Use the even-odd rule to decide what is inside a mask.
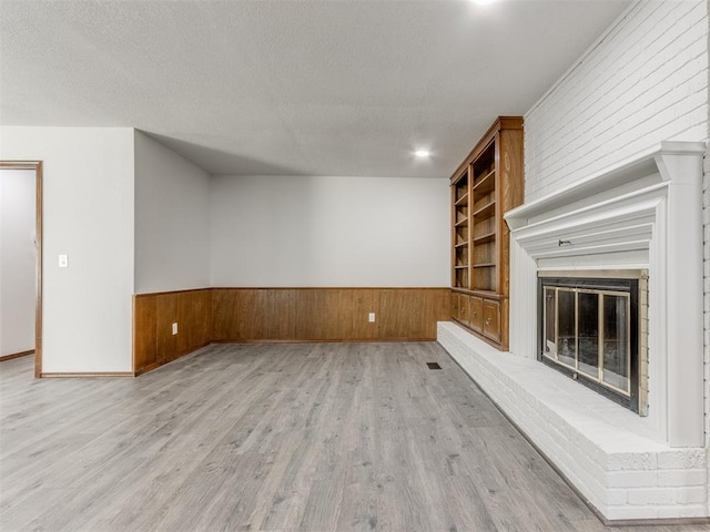
[[[2,170],[34,171],[34,223],[37,242],[34,244],[34,377],[42,377],[42,162],[41,161],[0,161]]]

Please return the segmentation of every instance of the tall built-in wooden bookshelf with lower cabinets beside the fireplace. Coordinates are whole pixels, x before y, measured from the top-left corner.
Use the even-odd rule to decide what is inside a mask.
[[[509,232],[523,203],[523,119],[500,116],[452,176],[452,317],[508,349]]]

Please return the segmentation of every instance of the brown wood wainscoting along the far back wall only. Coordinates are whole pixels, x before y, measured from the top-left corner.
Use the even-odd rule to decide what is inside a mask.
[[[212,340],[434,340],[448,305],[445,288],[213,288]]]

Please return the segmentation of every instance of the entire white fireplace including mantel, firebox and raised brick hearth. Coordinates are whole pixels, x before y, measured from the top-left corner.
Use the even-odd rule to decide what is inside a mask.
[[[439,342],[608,522],[709,515],[704,150],[662,143],[506,215],[510,352],[439,324]],[[625,290],[594,279],[642,280],[635,327],[618,323]],[[620,313],[613,325],[605,307]],[[546,311],[556,313],[547,325]],[[579,316],[595,313],[580,329]],[[612,352],[632,344],[635,382]]]

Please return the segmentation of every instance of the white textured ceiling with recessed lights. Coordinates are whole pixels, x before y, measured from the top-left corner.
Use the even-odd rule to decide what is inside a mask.
[[[448,177],[629,3],[0,0],[0,123],[138,127],[213,174]]]

